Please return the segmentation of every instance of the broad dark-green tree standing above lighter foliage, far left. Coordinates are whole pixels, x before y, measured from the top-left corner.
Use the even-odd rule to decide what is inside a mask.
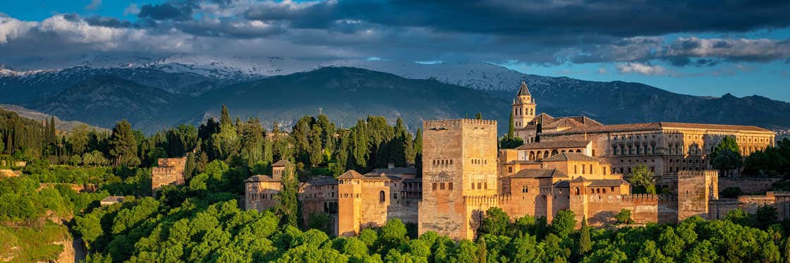
[[[115,165],[137,166],[137,140],[134,137],[132,126],[122,120],[112,128],[112,136],[107,142],[110,146],[110,156]]]

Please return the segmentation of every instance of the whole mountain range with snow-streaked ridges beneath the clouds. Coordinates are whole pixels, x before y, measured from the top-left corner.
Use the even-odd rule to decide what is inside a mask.
[[[288,58],[163,58],[136,63],[104,58],[60,70],[0,66],[0,103],[111,127],[126,118],[158,130],[197,124],[222,104],[232,115],[284,127],[322,112],[342,126],[358,118],[397,117],[411,129],[423,119],[482,112],[506,129],[521,80],[549,115],[587,115],[603,123],[708,122],[790,127],[790,103],[762,96],[688,96],[623,81],[581,81],[518,73],[487,63],[338,61],[326,67]],[[107,62],[111,61],[111,62]],[[306,71],[306,72],[303,72]]]

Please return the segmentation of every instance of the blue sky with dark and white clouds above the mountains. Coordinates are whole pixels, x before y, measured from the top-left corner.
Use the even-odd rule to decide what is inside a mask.
[[[491,62],[790,101],[790,1],[0,2],[0,63],[75,54]]]

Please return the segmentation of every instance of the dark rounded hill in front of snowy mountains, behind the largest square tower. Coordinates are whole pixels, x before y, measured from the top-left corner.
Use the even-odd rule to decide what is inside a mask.
[[[348,67],[325,67],[306,73],[244,82],[199,96],[194,106],[216,115],[221,104],[235,115],[278,120],[289,126],[295,118],[322,112],[342,126],[367,115],[389,121],[404,118],[416,130],[425,119],[465,118],[481,112],[485,118],[506,119],[508,103],[484,92],[433,80],[412,80],[389,73]],[[506,123],[500,123],[500,129]]]

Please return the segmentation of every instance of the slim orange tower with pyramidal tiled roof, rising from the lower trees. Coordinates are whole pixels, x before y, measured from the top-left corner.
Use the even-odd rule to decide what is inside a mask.
[[[362,217],[362,179],[354,170],[337,177],[337,235],[359,234],[359,219]]]

